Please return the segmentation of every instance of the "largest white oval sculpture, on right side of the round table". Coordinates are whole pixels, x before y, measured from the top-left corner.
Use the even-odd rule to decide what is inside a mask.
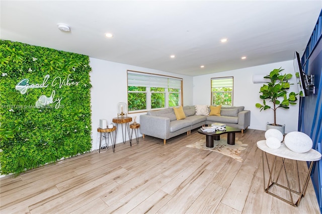
[[[308,152],[312,146],[312,139],[302,132],[290,132],[284,138],[287,148],[296,153]]]

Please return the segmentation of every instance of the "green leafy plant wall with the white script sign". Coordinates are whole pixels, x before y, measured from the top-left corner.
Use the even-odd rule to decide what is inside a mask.
[[[0,40],[0,173],[92,148],[89,57]]]

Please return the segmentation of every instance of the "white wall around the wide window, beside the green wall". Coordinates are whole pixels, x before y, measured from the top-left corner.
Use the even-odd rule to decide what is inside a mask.
[[[108,124],[111,124],[112,119],[117,117],[117,103],[127,102],[127,70],[156,73],[183,78],[183,104],[193,104],[193,77],[191,76],[174,74],[95,58],[90,58],[90,66],[92,67],[90,76],[93,86],[91,90],[93,138],[92,150],[99,148],[100,142],[97,128],[100,126],[100,119],[106,119],[108,121]],[[136,122],[140,123],[139,115],[140,114],[130,114],[129,117],[136,116]],[[140,133],[139,136],[141,136]],[[128,140],[128,138],[126,140]],[[123,142],[122,132],[118,132],[116,143],[121,142]]]

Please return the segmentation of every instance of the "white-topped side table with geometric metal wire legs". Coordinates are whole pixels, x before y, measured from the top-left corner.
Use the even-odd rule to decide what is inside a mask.
[[[321,154],[314,150],[314,149],[310,149],[308,152],[306,153],[296,153],[293,152],[291,150],[289,150],[284,143],[281,143],[281,147],[278,149],[271,149],[266,145],[266,140],[262,140],[262,141],[258,141],[257,142],[257,147],[262,150],[262,164],[263,164],[263,177],[264,177],[264,190],[265,192],[285,201],[288,202],[289,204],[293,205],[293,206],[298,206],[298,204],[300,203],[300,200],[302,197],[304,197],[305,192],[306,192],[306,188],[307,188],[307,184],[310,178],[310,173],[312,171],[312,167],[313,167],[313,163],[314,161],[318,161],[321,159]],[[268,162],[268,158],[267,158],[267,153],[274,155],[274,158],[272,160],[272,164],[270,165]],[[276,158],[281,158],[282,164],[280,166],[276,166]],[[266,184],[265,181],[265,168],[264,168],[264,159],[266,160],[267,163],[267,167],[269,170],[269,179],[268,179],[268,183]],[[285,168],[284,165],[284,161],[285,159],[290,159],[290,160],[295,160],[296,161],[296,169],[297,169],[297,184],[298,184],[298,190],[294,190],[290,188],[290,182],[289,182],[289,177],[287,176],[287,170]],[[299,179],[299,173],[298,173],[298,164],[297,161],[308,161],[310,162],[310,166],[307,172],[307,175],[305,177],[305,181],[303,184],[303,187],[301,188],[300,185],[300,179]],[[277,177],[273,178],[272,177],[272,173],[273,173],[273,169],[275,169],[275,172],[277,172]],[[285,172],[285,176],[286,176],[286,181],[287,181],[287,186],[283,186],[281,184],[278,183],[278,179],[279,176],[281,174],[282,169],[284,169]],[[277,170],[277,171],[276,171]],[[296,180],[296,179],[295,179]],[[282,198],[281,196],[278,196],[276,194],[274,194],[273,192],[270,191],[270,188],[274,185],[277,185],[279,187],[282,187],[286,190],[288,190],[289,192],[289,198],[285,199]],[[292,197],[292,193],[295,193],[297,195],[299,195],[297,201],[294,203],[293,197]]]

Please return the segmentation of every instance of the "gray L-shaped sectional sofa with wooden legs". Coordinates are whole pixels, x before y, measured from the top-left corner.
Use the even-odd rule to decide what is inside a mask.
[[[196,115],[195,105],[183,106],[186,118],[177,120],[173,108],[158,111],[148,111],[140,115],[140,133],[160,138],[166,141],[177,135],[187,133],[204,125],[224,123],[227,126],[241,129],[241,133],[250,126],[251,112],[244,110],[244,106],[221,106],[220,116]],[[208,110],[209,112],[209,110]]]

